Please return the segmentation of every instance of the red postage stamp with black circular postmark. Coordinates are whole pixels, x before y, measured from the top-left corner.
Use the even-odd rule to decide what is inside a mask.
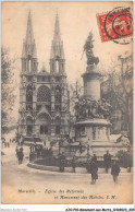
[[[106,14],[98,14],[97,19],[102,42],[123,38],[123,43],[126,43],[125,38],[133,35],[133,19],[130,8],[114,8]]]

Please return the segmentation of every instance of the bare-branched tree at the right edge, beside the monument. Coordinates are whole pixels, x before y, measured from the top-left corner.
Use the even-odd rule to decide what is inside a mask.
[[[108,89],[122,111],[126,123],[127,136],[133,142],[133,55],[118,56],[112,71],[108,75]]]

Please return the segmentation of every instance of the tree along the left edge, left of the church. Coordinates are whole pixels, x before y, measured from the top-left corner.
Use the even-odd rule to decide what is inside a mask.
[[[14,59],[9,56],[9,49],[1,48],[1,129],[2,133],[8,128],[10,113],[13,109],[15,95],[13,94],[13,67]]]

